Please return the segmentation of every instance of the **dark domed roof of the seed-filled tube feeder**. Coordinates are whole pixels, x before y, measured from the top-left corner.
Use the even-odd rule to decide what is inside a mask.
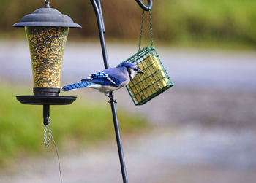
[[[25,15],[19,23],[13,25],[13,27],[24,26],[81,28],[69,16],[62,14],[57,9],[50,8],[49,4],[45,4],[45,7],[37,9],[29,15]]]

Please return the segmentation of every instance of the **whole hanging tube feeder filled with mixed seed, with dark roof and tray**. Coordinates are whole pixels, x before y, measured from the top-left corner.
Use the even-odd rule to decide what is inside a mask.
[[[75,96],[59,96],[61,66],[69,28],[80,28],[73,20],[45,7],[25,15],[13,27],[24,27],[29,42],[34,81],[34,96],[17,96],[22,104],[43,105],[44,125],[48,125],[50,105],[67,105],[75,101]]]

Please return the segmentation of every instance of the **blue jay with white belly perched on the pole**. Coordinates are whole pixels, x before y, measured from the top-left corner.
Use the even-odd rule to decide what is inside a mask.
[[[74,84],[61,87],[61,90],[69,91],[82,87],[89,87],[104,93],[110,98],[110,101],[115,101],[108,95],[108,93],[128,85],[128,83],[132,81],[132,79],[138,73],[143,74],[144,72],[141,71],[140,68],[134,63],[123,62],[114,68],[109,68],[105,69],[104,71],[90,74],[86,79],[82,79],[81,82],[76,82]]]

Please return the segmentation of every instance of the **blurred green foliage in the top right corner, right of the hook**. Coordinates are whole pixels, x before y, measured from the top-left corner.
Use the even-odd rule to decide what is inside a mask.
[[[156,13],[162,21],[156,25],[160,39],[256,45],[256,1],[171,0],[161,4]]]

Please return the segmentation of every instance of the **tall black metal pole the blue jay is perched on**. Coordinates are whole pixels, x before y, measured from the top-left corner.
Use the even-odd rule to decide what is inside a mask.
[[[100,38],[100,43],[102,47],[102,56],[103,56],[103,61],[104,61],[104,66],[105,69],[108,69],[108,56],[107,56],[107,51],[106,51],[106,46],[105,46],[105,38],[104,38],[104,23],[103,23],[103,16],[102,16],[102,10],[101,10],[101,5],[100,5],[100,0],[91,0],[91,4],[94,7],[94,12],[97,17],[97,23],[98,23],[98,28],[99,28],[99,38]],[[113,92],[110,92],[110,96],[113,98]],[[112,115],[113,115],[113,123],[115,127],[115,133],[116,133],[116,142],[117,142],[117,147],[118,147],[118,155],[119,155],[119,160],[120,160],[120,165],[121,165],[121,174],[123,177],[123,182],[127,183],[127,172],[125,168],[125,163],[124,163],[124,152],[121,144],[121,135],[119,131],[119,126],[118,126],[118,118],[117,118],[117,113],[116,113],[116,103],[113,100],[110,100],[110,105],[112,109]]]

